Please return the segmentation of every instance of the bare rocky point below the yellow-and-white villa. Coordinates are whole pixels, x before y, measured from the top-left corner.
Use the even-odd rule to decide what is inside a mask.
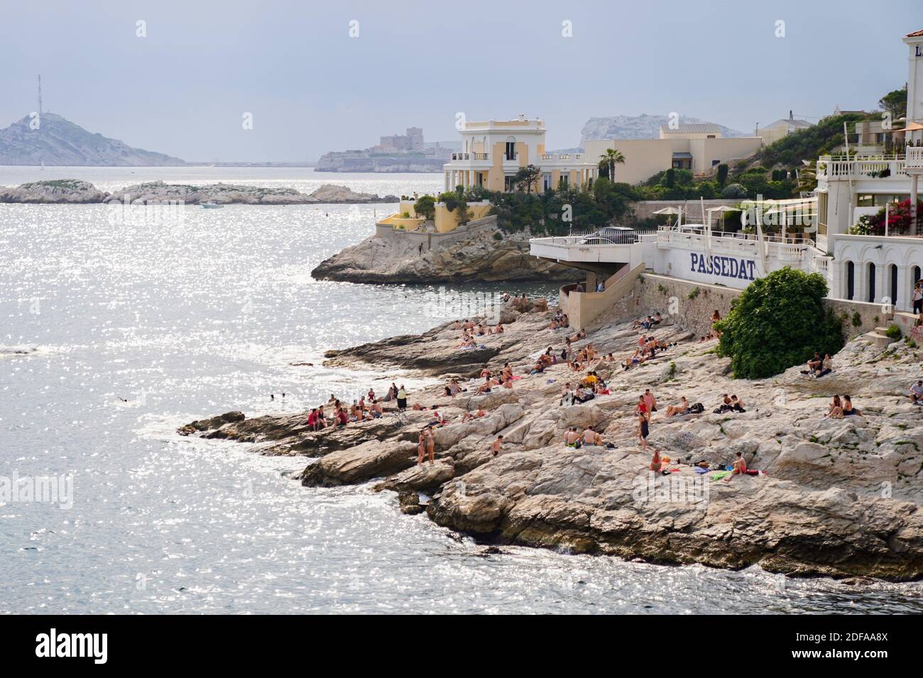
[[[529,233],[501,232],[495,217],[480,221],[484,223],[458,233],[450,244],[424,246],[422,251],[420,241],[403,233],[366,238],[320,262],[311,276],[394,284],[573,280],[572,269],[529,254]]]

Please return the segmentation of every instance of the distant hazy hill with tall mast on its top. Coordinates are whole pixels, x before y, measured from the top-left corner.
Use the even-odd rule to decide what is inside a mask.
[[[89,165],[152,167],[184,165],[184,161],[150,150],[133,149],[118,139],[88,132],[54,113],[42,113],[39,129],[30,117],[0,129],[0,165]]]

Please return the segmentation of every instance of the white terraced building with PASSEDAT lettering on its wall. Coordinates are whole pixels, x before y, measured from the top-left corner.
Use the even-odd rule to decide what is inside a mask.
[[[586,271],[586,289],[594,290],[597,281],[605,280],[603,291],[570,291],[566,295],[575,317],[589,322],[590,310],[594,314],[611,307],[629,279],[644,270],[695,284],[742,290],[752,280],[787,266],[820,273],[827,280],[831,299],[865,308],[876,321],[894,322],[905,330],[912,327],[914,316],[909,312],[913,309],[914,285],[923,279],[923,215],[911,211],[909,225],[893,230],[870,235],[850,232],[864,215],[878,214],[885,206],[894,210],[908,199],[917,205],[919,199],[923,175],[923,30],[909,33],[903,40],[910,53],[907,114],[905,120],[897,121],[902,126],[883,130],[893,136],[899,152],[881,155],[877,152],[881,137],[866,137],[865,143],[850,148],[850,153],[821,157],[814,196],[748,208],[752,216],[748,225],[754,227],[754,234],[713,231],[710,222],[716,219],[710,219],[661,228],[655,234],[638,236],[634,243],[601,242],[603,237],[533,238],[533,256]],[[863,132],[878,134],[864,128]],[[789,209],[816,215],[802,221],[806,228],[794,238],[767,228],[773,212],[778,215],[783,213],[780,210]]]

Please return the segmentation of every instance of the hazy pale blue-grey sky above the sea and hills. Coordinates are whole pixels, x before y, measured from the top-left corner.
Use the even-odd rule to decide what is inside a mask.
[[[543,117],[549,148],[602,115],[752,132],[789,109],[875,108],[919,29],[920,0],[3,0],[0,127],[36,110],[41,73],[45,111],[187,161],[315,160],[411,125],[455,139],[458,112]]]

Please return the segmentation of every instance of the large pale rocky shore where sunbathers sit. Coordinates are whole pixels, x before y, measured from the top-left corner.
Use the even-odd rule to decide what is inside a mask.
[[[653,310],[653,309],[652,309]],[[441,387],[411,394],[410,403],[436,405],[451,422],[434,431],[437,462],[416,466],[417,434],[431,410],[408,410],[408,425],[391,412],[372,422],[315,433],[306,412],[291,416],[202,422],[181,433],[241,440],[268,454],[319,457],[302,474],[308,486],[376,481],[395,492],[407,513],[426,510],[439,525],[484,541],[611,554],[656,563],[700,563],[742,568],[761,565],[798,576],[888,577],[923,575],[923,422],[907,387],[921,378],[921,355],[903,342],[884,350],[854,339],[834,356],[832,375],[813,380],[793,367],[762,381],[732,380],[729,361],[714,341],[699,342],[681,327],[655,335],[677,342],[662,357],[623,371],[600,363],[611,395],[582,405],[559,402],[574,382],[566,364],[528,376],[535,356],[560,350],[563,330],[548,328],[548,313],[514,316],[507,331],[479,339],[468,355],[455,348],[451,325],[424,335],[386,339],[359,350],[335,351],[339,365],[382,368],[404,364],[425,375],[476,375],[503,363],[523,375],[511,389],[476,395],[480,380],[457,398]],[[593,328],[586,340],[602,353],[623,358],[639,333],[628,323]],[[415,358],[414,358],[415,356]],[[638,395],[658,398],[651,422],[657,447],[676,469],[647,471],[651,450],[638,444]],[[723,393],[735,393],[746,412],[712,412]],[[863,416],[824,418],[834,393],[851,393]],[[685,395],[701,402],[701,415],[666,417],[668,404]],[[462,412],[484,417],[461,422]],[[593,427],[608,446],[564,446],[570,426]],[[504,435],[494,458],[490,443]],[[739,451],[749,467],[768,475],[713,481],[695,473]],[[421,501],[418,493],[431,495]]]

